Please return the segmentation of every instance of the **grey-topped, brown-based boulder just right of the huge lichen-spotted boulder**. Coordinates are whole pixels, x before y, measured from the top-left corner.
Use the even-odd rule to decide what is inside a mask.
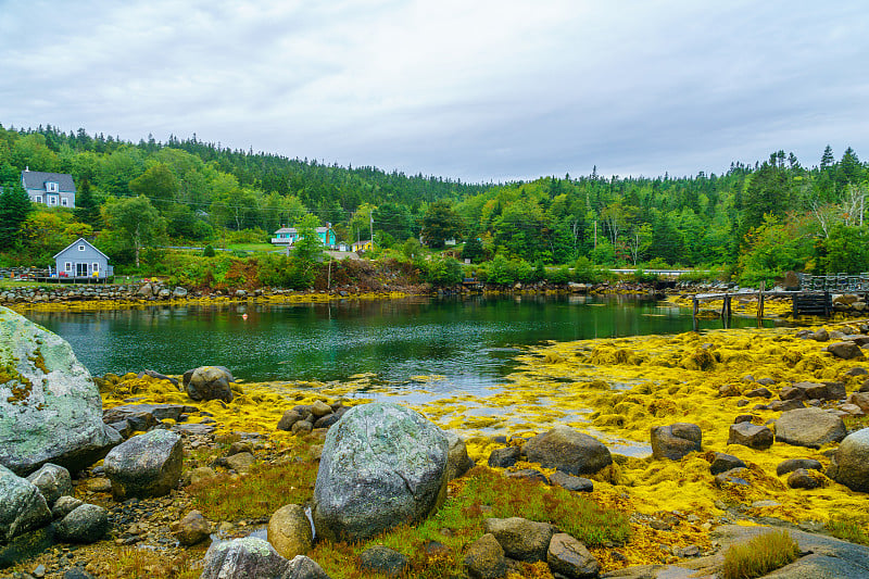
[[[168,430],[151,430],[112,449],[103,469],[115,499],[162,496],[181,478],[182,462],[181,437]]]

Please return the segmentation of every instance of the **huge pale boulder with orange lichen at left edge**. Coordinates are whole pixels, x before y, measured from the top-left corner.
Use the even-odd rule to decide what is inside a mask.
[[[46,463],[76,473],[119,442],[70,344],[0,306],[0,465],[22,476]]]

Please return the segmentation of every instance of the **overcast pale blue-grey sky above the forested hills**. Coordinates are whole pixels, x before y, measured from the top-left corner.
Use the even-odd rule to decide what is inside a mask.
[[[861,1],[0,0],[0,124],[463,181],[869,160]]]

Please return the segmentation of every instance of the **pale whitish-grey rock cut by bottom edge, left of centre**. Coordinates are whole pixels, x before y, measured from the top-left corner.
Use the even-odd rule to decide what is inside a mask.
[[[254,537],[215,542],[203,561],[200,579],[249,579],[282,577],[290,562],[267,541]]]

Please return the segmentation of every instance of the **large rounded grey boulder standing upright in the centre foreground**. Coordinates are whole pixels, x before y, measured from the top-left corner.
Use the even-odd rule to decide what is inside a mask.
[[[449,441],[421,414],[354,406],[326,435],[314,487],[318,536],[360,541],[416,523],[445,498]]]

